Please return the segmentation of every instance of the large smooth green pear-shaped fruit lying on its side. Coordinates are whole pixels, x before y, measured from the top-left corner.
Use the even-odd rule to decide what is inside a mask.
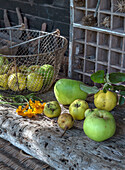
[[[59,103],[69,105],[76,99],[85,100],[87,93],[80,89],[80,81],[71,79],[60,79],[54,86],[55,97]]]

